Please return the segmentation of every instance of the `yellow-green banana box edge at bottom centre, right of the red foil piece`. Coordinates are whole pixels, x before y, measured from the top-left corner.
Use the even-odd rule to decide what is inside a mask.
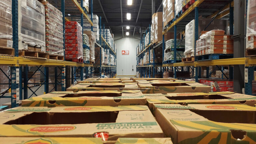
[[[115,144],[173,144],[171,138],[118,138]]]

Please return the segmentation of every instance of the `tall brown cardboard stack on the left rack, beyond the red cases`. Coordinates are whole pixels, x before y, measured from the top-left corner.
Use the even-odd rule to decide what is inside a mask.
[[[89,37],[89,45],[90,45],[90,62],[95,62],[95,33],[92,31],[84,31],[84,34],[86,34]]]

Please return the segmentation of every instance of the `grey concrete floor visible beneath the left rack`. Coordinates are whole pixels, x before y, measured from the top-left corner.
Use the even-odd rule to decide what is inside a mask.
[[[35,91],[38,87],[39,87],[39,86],[37,86],[37,87],[32,87],[31,89],[32,89],[33,91]],[[23,93],[23,91],[22,91],[22,93]],[[44,94],[44,86],[41,86],[35,93],[36,93],[37,95],[42,95],[42,94]],[[30,89],[28,89],[28,97],[29,97],[31,94],[32,94],[32,92],[30,91]],[[4,96],[11,96],[11,93],[6,93]],[[31,97],[34,97],[34,96],[35,96],[35,95],[33,94]],[[8,102],[11,102],[11,98],[1,98],[1,99],[0,99],[0,106],[1,106],[2,104],[8,103]]]

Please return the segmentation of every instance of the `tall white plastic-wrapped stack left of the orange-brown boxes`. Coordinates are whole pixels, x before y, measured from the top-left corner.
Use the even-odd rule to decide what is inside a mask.
[[[188,53],[194,53],[194,48],[195,48],[195,20],[192,20],[186,25],[185,29],[185,36],[186,36],[186,41],[185,41],[185,52],[184,55],[185,57],[192,57],[194,55],[188,56]]]

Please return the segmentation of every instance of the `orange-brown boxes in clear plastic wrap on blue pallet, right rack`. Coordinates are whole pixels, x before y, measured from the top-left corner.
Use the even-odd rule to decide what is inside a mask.
[[[231,35],[224,35],[223,30],[211,30],[200,36],[196,41],[196,56],[205,54],[233,54]]]

